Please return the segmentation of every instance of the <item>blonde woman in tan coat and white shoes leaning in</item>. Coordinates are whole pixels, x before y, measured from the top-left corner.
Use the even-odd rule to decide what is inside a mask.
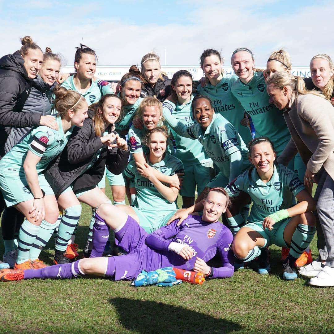
[[[283,115],[292,139],[279,157],[286,165],[297,152],[307,166],[304,184],[318,184],[317,236],[319,258],[299,270],[301,275],[315,276],[315,286],[334,286],[334,113],[333,106],[315,91],[306,90],[304,80],[286,72],[267,79],[270,102]]]

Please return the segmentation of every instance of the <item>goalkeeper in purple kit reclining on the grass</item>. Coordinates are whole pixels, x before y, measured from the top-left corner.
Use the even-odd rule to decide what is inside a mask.
[[[166,266],[202,272],[209,277],[231,277],[234,271],[230,249],[233,237],[228,228],[218,221],[227,208],[228,195],[222,188],[211,189],[203,205],[202,217],[188,216],[180,226],[174,221],[149,235],[117,206],[101,204],[96,212],[93,249],[102,254],[109,226],[115,232],[116,243],[129,254],[85,258],[37,270],[2,269],[0,280],[72,278],[85,277],[86,274],[130,280],[143,269],[152,271]],[[221,267],[209,267],[206,262],[217,252]]]

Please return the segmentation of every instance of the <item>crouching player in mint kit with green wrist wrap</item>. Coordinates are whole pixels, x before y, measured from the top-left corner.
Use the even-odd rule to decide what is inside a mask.
[[[248,223],[236,233],[232,250],[242,262],[252,261],[261,254],[258,272],[266,274],[270,270],[266,247],[271,244],[289,247],[289,255],[283,262],[283,278],[293,280],[297,278],[296,259],[315,234],[316,221],[311,212],[315,210],[315,202],[297,175],[281,164],[274,164],[275,159],[268,138],[254,139],[249,147],[249,160],[255,168],[227,185],[230,196],[244,191],[253,201]]]

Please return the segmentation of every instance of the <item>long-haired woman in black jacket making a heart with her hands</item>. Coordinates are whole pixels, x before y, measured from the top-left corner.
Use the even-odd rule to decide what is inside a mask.
[[[51,185],[59,206],[64,210],[55,246],[56,264],[70,262],[64,253],[79,222],[80,202],[93,208],[102,203],[111,203],[97,184],[104,177],[106,165],[108,170],[120,174],[129,158],[126,141],[112,130],[121,117],[121,98],[107,94],[89,108],[88,118],[83,126],[73,131],[63,153],[45,172],[45,178]],[[93,219],[95,220],[95,211]],[[37,244],[44,247],[47,242],[47,238],[40,237]],[[85,249],[91,249],[90,241]],[[36,256],[38,254],[34,257]]]

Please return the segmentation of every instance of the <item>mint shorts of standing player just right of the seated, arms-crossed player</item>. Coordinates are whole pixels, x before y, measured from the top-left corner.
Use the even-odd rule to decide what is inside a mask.
[[[180,195],[195,197],[196,185],[197,194],[200,194],[214,175],[215,171],[213,168],[213,162],[184,166],[184,177],[182,187],[180,189]]]

